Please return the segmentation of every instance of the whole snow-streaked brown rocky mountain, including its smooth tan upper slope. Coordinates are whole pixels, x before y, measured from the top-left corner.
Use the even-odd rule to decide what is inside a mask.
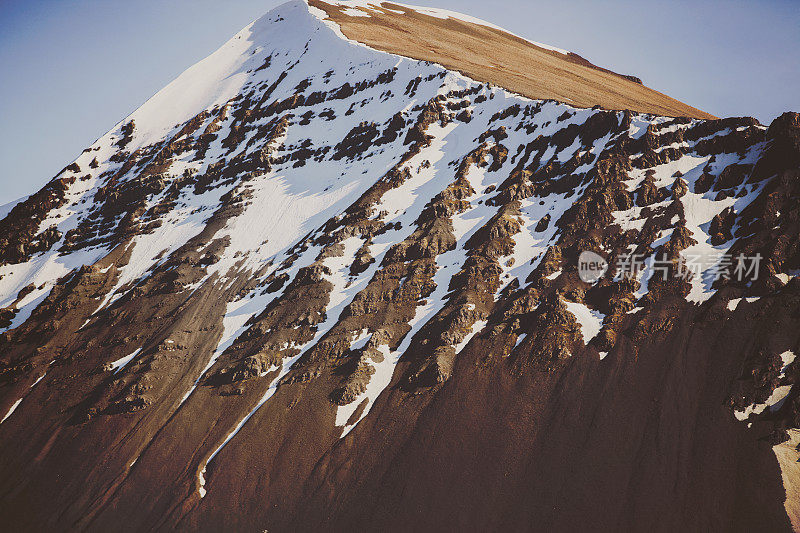
[[[573,56],[293,1],[9,206],[4,529],[800,527],[800,116]]]

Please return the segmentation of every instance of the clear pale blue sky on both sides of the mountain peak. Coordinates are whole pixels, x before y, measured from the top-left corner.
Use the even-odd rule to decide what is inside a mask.
[[[0,0],[0,206],[280,0]],[[796,0],[412,0],[572,50],[717,116],[800,111]]]

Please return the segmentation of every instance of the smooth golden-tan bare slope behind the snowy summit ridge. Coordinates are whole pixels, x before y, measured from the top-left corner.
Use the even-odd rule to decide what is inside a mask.
[[[577,107],[600,105],[663,116],[713,119],[577,54],[547,50],[504,31],[453,18],[437,18],[408,6],[376,2],[370,9],[309,0],[336,22],[349,39],[393,54],[439,63],[478,81],[534,99]],[[356,9],[369,14],[352,16]]]

